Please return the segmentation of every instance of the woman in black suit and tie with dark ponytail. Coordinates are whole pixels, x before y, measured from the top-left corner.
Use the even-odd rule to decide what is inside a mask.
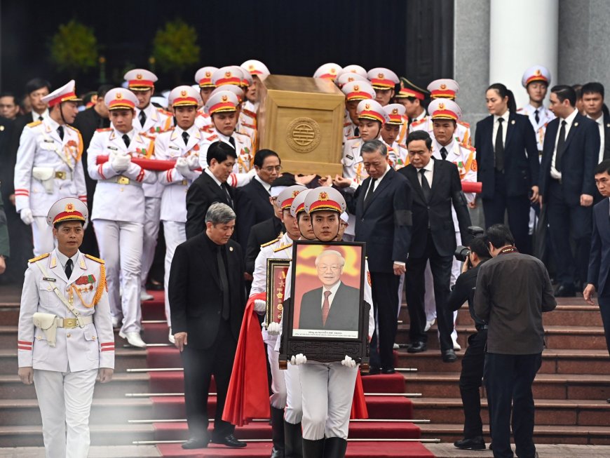
[[[517,114],[513,93],[501,83],[487,88],[490,116],[477,123],[477,180],[482,182],[485,227],[508,226],[521,252],[529,243],[530,202],[538,200],[538,149],[536,133],[527,116]]]

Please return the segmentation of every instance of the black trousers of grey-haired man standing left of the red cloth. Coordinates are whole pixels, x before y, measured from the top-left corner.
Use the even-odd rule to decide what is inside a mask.
[[[216,342],[210,348],[194,349],[187,345],[182,351],[184,403],[187,407],[189,437],[208,436],[208,391],[212,375],[217,392],[212,437],[221,439],[235,431],[235,426],[222,420],[237,348],[237,341],[229,326],[229,321],[220,321]]]

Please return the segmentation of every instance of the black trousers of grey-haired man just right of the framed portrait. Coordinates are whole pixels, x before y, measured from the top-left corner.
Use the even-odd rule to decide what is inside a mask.
[[[394,367],[394,341],[398,330],[398,285],[400,277],[393,273],[371,272],[375,332],[371,338],[371,365]],[[377,333],[379,332],[379,335]],[[379,346],[379,353],[377,347]]]

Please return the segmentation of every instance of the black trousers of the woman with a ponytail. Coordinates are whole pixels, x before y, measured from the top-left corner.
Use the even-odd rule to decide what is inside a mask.
[[[496,170],[496,186],[494,198],[484,198],[483,214],[485,227],[493,224],[504,224],[504,213],[508,213],[508,227],[515,237],[517,249],[531,254],[531,243],[529,241],[529,198],[523,196],[506,196],[506,178],[503,173]]]

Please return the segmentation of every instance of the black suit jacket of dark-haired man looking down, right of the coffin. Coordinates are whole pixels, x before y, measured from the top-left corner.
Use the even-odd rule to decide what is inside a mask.
[[[417,169],[409,164],[398,170],[407,177],[413,192],[413,231],[409,257],[423,257],[426,255],[426,239],[428,237],[428,221],[432,240],[441,256],[452,256],[456,249],[455,229],[451,213],[452,205],[455,208],[462,243],[468,245],[470,236],[470,214],[466,206],[466,197],[462,192],[460,175],[457,166],[448,161],[436,161],[434,158],[434,172],[431,184],[430,202],[423,198],[421,184],[419,184]]]

